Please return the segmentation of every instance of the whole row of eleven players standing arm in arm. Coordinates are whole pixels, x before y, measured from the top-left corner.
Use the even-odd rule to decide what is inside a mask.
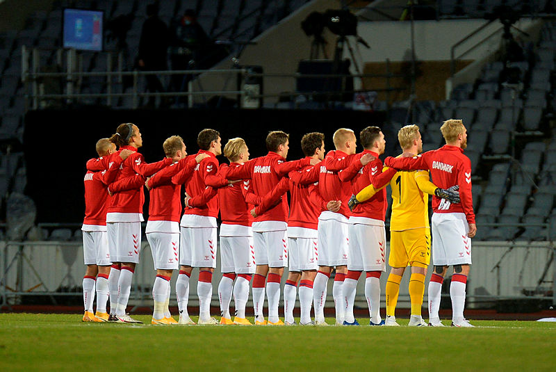
[[[323,310],[327,282],[335,270],[336,325],[359,325],[353,307],[357,281],[365,271],[369,324],[395,326],[400,282],[410,266],[409,325],[427,325],[421,307],[432,241],[428,325],[443,325],[439,318],[441,286],[448,266],[453,266],[452,325],[473,327],[464,318],[471,238],[477,231],[471,161],[464,155],[466,128],[461,120],[447,120],[440,130],[446,144],[420,154],[423,143],[418,126],[403,127],[398,132],[403,153],[387,157],[384,164],[379,155],[384,153],[386,140],[379,127],[373,126],[359,133],[363,147],[359,153],[354,131],[341,128],[333,136],[334,150],[325,153],[324,134],[313,132],[302,137],[304,158],[286,161],[288,134],[270,131],[268,154],[250,159],[242,138],[228,140],[222,150],[218,131],[204,129],[197,136],[197,154],[188,155],[183,139],[171,136],[163,143],[165,159],[145,163],[138,152],[142,147],[139,128],[120,124],[111,138],[97,142],[99,157],[87,163],[83,321],[140,323],[126,314],[126,307],[140,257],[146,186],[150,202],[145,233],[156,269],[153,324],[194,324],[187,309],[189,278],[193,268],[199,268],[199,324],[252,325],[245,316],[252,282],[255,325],[294,325],[297,289],[300,325],[328,325]],[[219,164],[216,156],[222,152],[229,163]],[[386,271],[386,186],[391,187],[393,204],[391,270],[383,320],[379,278]],[[285,193],[290,195],[289,205]],[[433,197],[431,224],[428,195]],[[220,321],[210,314],[218,213],[222,220]],[[280,282],[286,266],[281,321]],[[179,321],[168,309],[174,270],[179,270]],[[92,309],[95,294],[96,314]],[[268,319],[263,316],[265,294]],[[232,295],[233,320],[229,310]],[[108,298],[110,313],[106,310]]]

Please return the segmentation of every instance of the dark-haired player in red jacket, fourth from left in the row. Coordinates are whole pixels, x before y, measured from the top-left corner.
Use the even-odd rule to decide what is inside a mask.
[[[197,136],[199,152],[208,157],[203,159],[186,184],[186,194],[195,199],[201,197],[207,186],[213,189],[228,184],[226,179],[218,176],[218,159],[222,154],[220,134],[214,129],[203,129]],[[183,172],[172,177],[174,184],[183,184]],[[213,197],[201,205],[191,205],[186,198],[186,209],[181,217],[181,243],[179,246],[179,276],[176,282],[176,293],[179,298],[180,311],[187,308],[189,293],[189,277],[193,268],[199,268],[197,296],[199,297],[199,324],[218,324],[211,317],[211,298],[213,294],[212,277],[216,267],[218,195],[214,190]]]

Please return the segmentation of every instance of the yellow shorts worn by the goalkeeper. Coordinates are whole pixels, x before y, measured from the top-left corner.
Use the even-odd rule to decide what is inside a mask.
[[[404,268],[408,264],[426,268],[430,263],[430,228],[390,232],[390,256],[388,264]]]

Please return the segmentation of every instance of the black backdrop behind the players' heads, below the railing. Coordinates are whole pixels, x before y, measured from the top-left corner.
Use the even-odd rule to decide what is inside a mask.
[[[222,148],[229,138],[244,138],[251,158],[267,153],[265,137],[268,131],[286,131],[290,134],[288,159],[293,160],[303,156],[300,140],[306,133],[324,133],[328,151],[334,149],[332,134],[336,129],[346,127],[359,134],[368,125],[382,127],[383,121],[382,113],[361,111],[128,111],[106,108],[31,111],[26,115],[24,132],[26,194],[37,204],[38,222],[80,223],[85,209],[85,162],[97,157],[97,140],[114,134],[116,127],[122,122],[133,122],[139,127],[143,138],[140,152],[145,156],[145,161],[150,163],[163,158],[162,143],[165,138],[174,134],[183,137],[189,154],[197,152],[197,134],[204,128],[220,131]],[[398,142],[389,134],[388,129],[385,128],[384,131],[387,145]],[[219,159],[220,162],[227,160],[224,156],[219,156]],[[148,193],[145,196],[146,220]]]

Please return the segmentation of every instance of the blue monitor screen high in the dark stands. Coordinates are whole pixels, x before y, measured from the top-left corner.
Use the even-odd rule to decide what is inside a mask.
[[[101,10],[64,9],[63,47],[102,51]]]

